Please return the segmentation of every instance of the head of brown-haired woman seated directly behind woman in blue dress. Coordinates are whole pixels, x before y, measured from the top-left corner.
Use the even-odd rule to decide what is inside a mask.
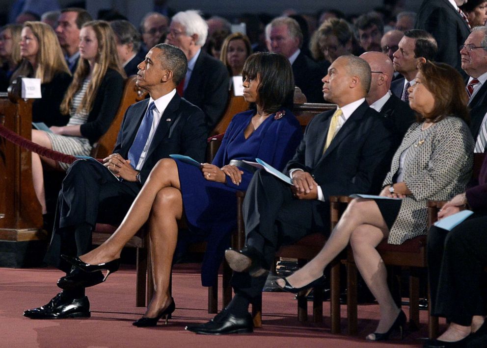
[[[242,33],[228,35],[221,46],[220,60],[230,76],[242,75],[243,63],[252,54],[248,37]]]

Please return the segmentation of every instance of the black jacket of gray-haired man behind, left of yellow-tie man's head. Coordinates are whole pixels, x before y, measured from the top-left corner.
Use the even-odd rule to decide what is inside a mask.
[[[309,103],[323,103],[323,82],[326,73],[303,52],[298,54],[293,65],[294,83],[298,86]]]

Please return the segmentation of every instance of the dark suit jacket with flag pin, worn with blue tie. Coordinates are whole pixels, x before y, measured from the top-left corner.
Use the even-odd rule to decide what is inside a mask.
[[[113,153],[128,157],[137,130],[142,122],[149,99],[139,101],[125,112]],[[200,108],[176,95],[171,99],[156,128],[147,158],[140,171],[142,184],[161,158],[172,153],[190,156],[204,162],[208,128]]]

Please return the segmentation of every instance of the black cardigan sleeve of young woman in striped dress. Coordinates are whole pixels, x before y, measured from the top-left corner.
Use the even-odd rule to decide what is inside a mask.
[[[100,85],[89,121],[81,124],[81,135],[88,138],[91,143],[96,142],[110,127],[117,114],[120,100],[122,100],[124,79],[115,71],[108,71]],[[100,106],[95,108],[95,104]],[[94,115],[96,113],[96,115]]]

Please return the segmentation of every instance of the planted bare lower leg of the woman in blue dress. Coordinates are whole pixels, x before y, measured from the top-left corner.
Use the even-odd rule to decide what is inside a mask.
[[[154,296],[144,317],[154,318],[170,304],[169,277],[178,240],[178,220],[183,214],[181,192],[163,188],[156,196],[149,219]]]

